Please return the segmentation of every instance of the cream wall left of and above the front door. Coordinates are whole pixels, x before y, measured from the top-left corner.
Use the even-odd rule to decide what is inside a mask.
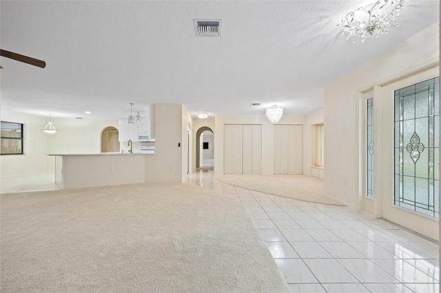
[[[349,206],[358,195],[358,92],[437,62],[439,23],[325,87],[325,193]],[[387,36],[386,36],[387,37]],[[369,41],[376,41],[375,39]],[[424,44],[424,45],[422,45]],[[346,185],[343,180],[346,179]]]

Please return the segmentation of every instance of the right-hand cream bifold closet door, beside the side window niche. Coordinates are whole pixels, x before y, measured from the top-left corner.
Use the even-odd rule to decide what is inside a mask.
[[[274,125],[274,174],[303,174],[302,125]]]

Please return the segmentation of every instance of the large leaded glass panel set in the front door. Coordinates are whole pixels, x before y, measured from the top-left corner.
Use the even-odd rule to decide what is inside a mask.
[[[394,204],[440,217],[440,79],[395,91]]]

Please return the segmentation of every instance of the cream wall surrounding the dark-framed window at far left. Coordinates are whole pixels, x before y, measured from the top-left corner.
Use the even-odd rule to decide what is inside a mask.
[[[24,155],[1,155],[1,176],[52,171],[54,158],[48,155],[48,138],[51,134],[43,132],[49,118],[25,113],[1,111],[2,121],[24,124]],[[57,124],[54,123],[56,127]]]

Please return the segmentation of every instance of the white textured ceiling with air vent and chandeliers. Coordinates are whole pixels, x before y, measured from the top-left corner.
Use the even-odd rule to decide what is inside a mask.
[[[306,114],[332,80],[439,21],[439,1],[407,0],[400,28],[353,44],[336,24],[371,1],[1,1],[1,49],[47,64],[2,57],[1,107],[72,118],[124,117],[129,102]],[[196,37],[193,19],[222,19],[222,37]]]

